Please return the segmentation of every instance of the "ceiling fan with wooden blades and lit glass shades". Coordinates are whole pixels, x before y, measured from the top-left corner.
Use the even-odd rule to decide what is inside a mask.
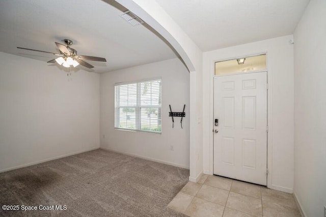
[[[72,41],[70,39],[64,39],[63,41],[67,45],[63,45],[58,42],[55,42],[57,47],[60,50],[60,53],[53,53],[53,52],[48,52],[48,51],[43,51],[43,50],[35,50],[35,49],[29,49],[29,48],[24,48],[24,47],[17,47],[17,48],[25,49],[25,50],[39,51],[39,52],[44,52],[44,53],[52,53],[53,55],[59,56],[59,58],[50,60],[50,61],[48,61],[48,63],[57,62],[59,65],[62,65],[67,68],[70,66],[76,67],[79,64],[82,66],[85,66],[89,69],[94,68],[94,66],[85,62],[84,60],[106,62],[105,58],[101,58],[101,57],[77,55],[77,50],[75,50],[69,46],[69,45],[72,45]]]

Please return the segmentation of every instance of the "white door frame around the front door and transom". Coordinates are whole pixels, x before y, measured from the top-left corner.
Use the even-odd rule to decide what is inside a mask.
[[[267,169],[268,169],[268,175],[267,175],[267,187],[271,187],[271,180],[273,176],[273,168],[272,168],[272,150],[273,150],[273,141],[271,135],[273,134],[273,126],[272,126],[272,114],[271,114],[271,108],[272,108],[272,93],[273,93],[273,85],[272,85],[272,70],[271,70],[271,55],[267,50],[261,50],[259,52],[254,53],[244,53],[241,56],[228,56],[223,59],[211,59],[210,60],[210,70],[209,70],[209,77],[210,77],[210,106],[209,106],[209,117],[210,117],[210,134],[209,134],[209,171],[204,171],[205,174],[213,175],[213,147],[214,147],[214,139],[213,139],[213,127],[214,127],[214,77],[215,76],[223,76],[223,75],[215,75],[215,62],[219,61],[225,61],[225,60],[233,60],[233,59],[239,59],[243,57],[249,57],[249,56],[256,56],[261,54],[266,54],[266,69],[260,70],[260,71],[253,71],[248,73],[255,73],[255,72],[267,72],[267,83],[268,83],[268,90],[267,90],[267,125],[268,125],[268,132],[267,132]],[[236,74],[236,73],[234,73]],[[241,73],[242,74],[242,73]]]

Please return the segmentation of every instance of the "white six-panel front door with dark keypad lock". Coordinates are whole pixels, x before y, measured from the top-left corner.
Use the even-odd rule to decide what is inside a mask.
[[[215,76],[214,119],[214,174],[266,185],[267,72]]]

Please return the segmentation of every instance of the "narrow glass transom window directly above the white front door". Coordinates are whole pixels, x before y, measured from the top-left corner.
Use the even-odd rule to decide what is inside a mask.
[[[215,75],[263,71],[265,69],[267,69],[266,53],[256,56],[215,62]]]

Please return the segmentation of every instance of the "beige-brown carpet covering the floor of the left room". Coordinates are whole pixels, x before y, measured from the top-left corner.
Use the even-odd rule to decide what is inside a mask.
[[[186,169],[98,149],[0,173],[1,207],[20,208],[0,207],[0,216],[184,216],[167,205],[188,176]]]

